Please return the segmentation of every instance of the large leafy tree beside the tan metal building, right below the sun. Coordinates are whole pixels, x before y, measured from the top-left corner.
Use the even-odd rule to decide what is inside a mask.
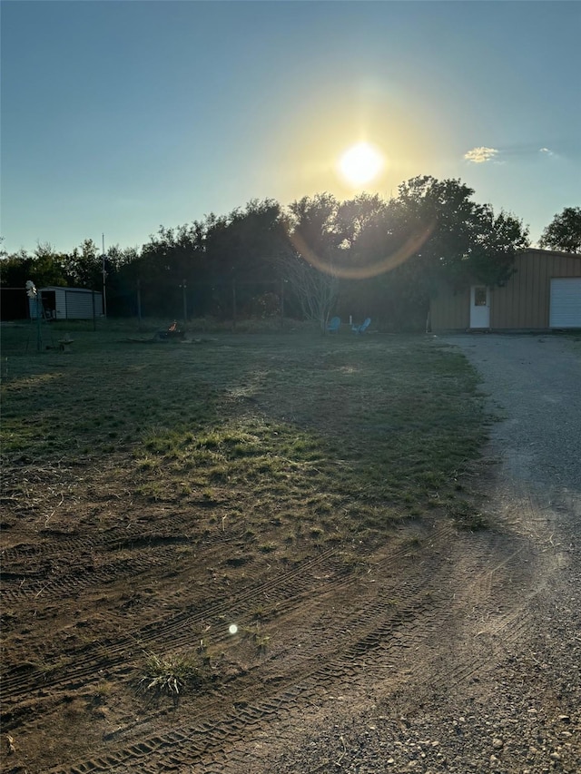
[[[423,176],[402,183],[389,202],[371,208],[367,201],[369,217],[345,253],[341,309],[419,328],[440,283],[505,281],[527,246],[527,229],[514,215],[473,201],[473,193],[461,181]]]

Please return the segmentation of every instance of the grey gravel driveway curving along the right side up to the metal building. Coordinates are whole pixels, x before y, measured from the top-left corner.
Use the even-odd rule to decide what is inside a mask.
[[[449,544],[452,614],[391,681],[369,674],[367,700],[339,701],[251,772],[581,772],[581,340],[434,341],[465,353],[500,420],[483,459],[490,529]]]

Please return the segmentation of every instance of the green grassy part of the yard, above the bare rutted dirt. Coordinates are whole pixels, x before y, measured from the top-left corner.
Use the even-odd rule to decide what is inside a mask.
[[[62,331],[37,351],[33,328],[2,330],[2,452],[5,497],[39,518],[90,519],[99,490],[243,524],[264,554],[374,540],[427,512],[478,525],[462,477],[485,436],[478,380],[437,339],[153,343],[68,324],[62,352],[45,348]]]

